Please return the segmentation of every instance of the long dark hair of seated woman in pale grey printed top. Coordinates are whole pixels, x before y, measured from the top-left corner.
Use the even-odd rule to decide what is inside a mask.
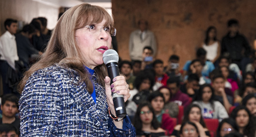
[[[202,101],[203,100],[203,89],[209,87],[212,91],[212,96],[209,100],[209,102],[212,105],[212,109],[214,110],[214,90],[212,88],[212,86],[210,84],[203,84],[202,86],[200,86],[199,90],[198,90],[198,95],[196,96],[196,101]]]

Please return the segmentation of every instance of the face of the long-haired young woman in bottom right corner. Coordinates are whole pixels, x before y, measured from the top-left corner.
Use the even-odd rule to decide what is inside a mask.
[[[249,114],[245,110],[240,110],[237,112],[235,121],[239,128],[244,128],[249,123]]]

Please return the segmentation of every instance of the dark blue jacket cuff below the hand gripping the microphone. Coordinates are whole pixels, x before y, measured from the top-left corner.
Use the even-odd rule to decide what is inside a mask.
[[[112,118],[108,118],[110,137],[136,137],[136,131],[130,122],[128,115],[123,119],[123,129],[118,129]]]

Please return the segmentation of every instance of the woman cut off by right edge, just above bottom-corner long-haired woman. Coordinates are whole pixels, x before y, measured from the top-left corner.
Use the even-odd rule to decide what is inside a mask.
[[[254,117],[256,117],[256,94],[255,93],[246,95],[242,100],[242,105],[245,106]]]

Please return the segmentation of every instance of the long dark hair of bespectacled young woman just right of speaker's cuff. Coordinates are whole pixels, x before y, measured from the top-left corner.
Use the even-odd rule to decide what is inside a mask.
[[[154,129],[158,129],[160,127],[160,124],[157,120],[157,117],[154,113],[154,109],[153,107],[151,106],[151,104],[149,102],[142,102],[138,105],[138,108],[137,108],[137,111],[134,115],[134,118],[133,118],[133,125],[136,129],[136,132],[139,132],[142,130],[142,121],[140,119],[140,111],[143,107],[148,107],[149,110],[153,113],[153,119],[151,121],[151,126],[154,128]]]

